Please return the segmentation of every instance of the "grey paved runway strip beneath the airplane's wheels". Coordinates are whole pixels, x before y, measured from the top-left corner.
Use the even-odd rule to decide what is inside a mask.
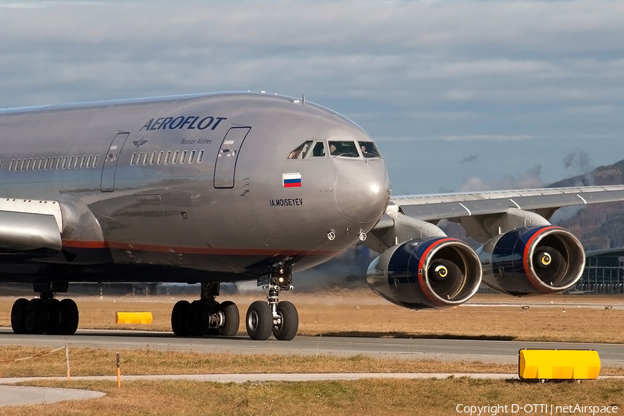
[[[431,338],[356,338],[296,336],[291,341],[254,341],[247,336],[176,337],[171,332],[78,329],[73,336],[17,335],[0,329],[0,345],[31,345],[58,348],[157,349],[229,354],[300,354],[376,358],[427,358],[441,361],[517,363],[518,350],[595,349],[604,366],[624,366],[624,345],[589,343],[537,343],[504,340],[458,340]]]

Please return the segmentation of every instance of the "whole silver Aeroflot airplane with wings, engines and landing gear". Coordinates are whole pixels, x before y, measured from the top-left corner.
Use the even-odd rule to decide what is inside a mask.
[[[257,281],[245,328],[291,340],[279,301],[293,272],[365,243],[367,282],[410,309],[467,302],[482,279],[508,295],[560,293],[584,268],[560,207],[624,200],[624,187],[390,195],[379,148],[321,105],[264,92],[191,94],[0,110],[0,283],[39,293],[15,333],[71,335],[73,282],[200,283],[173,306],[176,336],[234,336],[220,283]],[[437,222],[460,223],[473,250]]]

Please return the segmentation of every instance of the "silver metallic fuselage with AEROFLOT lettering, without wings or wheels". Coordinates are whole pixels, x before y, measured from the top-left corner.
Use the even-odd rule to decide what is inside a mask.
[[[2,248],[0,280],[236,281],[336,257],[383,215],[388,175],[381,158],[288,159],[306,140],[372,141],[266,94],[0,110],[0,197],[62,211],[62,250]]]

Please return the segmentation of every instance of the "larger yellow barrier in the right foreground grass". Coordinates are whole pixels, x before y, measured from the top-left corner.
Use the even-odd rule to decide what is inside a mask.
[[[593,349],[521,349],[521,379],[597,379],[600,357]]]

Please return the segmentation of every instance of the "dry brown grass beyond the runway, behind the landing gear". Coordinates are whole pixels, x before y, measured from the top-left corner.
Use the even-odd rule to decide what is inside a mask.
[[[248,305],[263,293],[224,296],[239,305],[241,327]],[[555,295],[517,299],[502,295],[477,295],[474,302],[512,302],[514,306],[459,306],[454,309],[411,311],[395,306],[370,291],[329,294],[282,293],[281,299],[297,305],[300,335],[395,336],[405,338],[482,338],[582,343],[624,343],[624,309],[579,307],[589,302],[624,304],[624,297]],[[83,297],[80,328],[147,329],[171,331],[171,309],[179,300],[171,297]],[[0,299],[0,326],[10,326],[14,299]],[[565,306],[549,302],[564,302]],[[539,302],[523,311],[523,304]],[[472,303],[469,302],[469,303]],[[517,305],[517,306],[515,306]],[[565,312],[563,310],[565,309]],[[116,311],[151,311],[150,325],[115,324]]]

